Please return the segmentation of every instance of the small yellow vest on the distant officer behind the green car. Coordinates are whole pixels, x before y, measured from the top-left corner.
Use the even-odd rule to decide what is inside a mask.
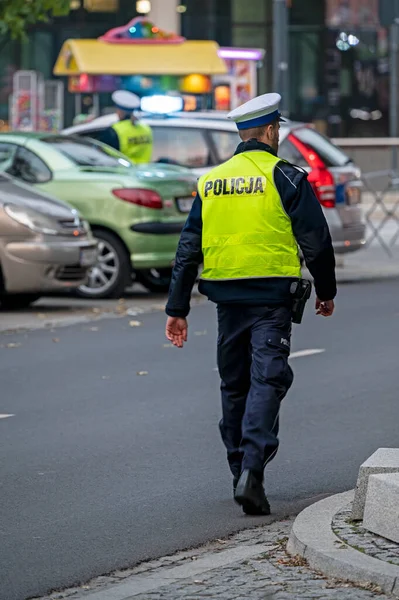
[[[140,121],[132,123],[130,119],[118,121],[112,128],[119,139],[119,150],[135,163],[151,162],[152,131],[151,127]]]

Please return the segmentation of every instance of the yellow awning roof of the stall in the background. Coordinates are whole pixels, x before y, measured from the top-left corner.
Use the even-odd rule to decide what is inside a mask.
[[[217,75],[227,73],[212,41],[181,44],[109,44],[100,40],[64,42],[55,75]]]

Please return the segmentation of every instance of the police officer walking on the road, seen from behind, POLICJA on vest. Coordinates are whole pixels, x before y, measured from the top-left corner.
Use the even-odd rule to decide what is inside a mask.
[[[331,316],[336,295],[323,211],[306,172],[277,156],[280,100],[265,94],[228,115],[242,142],[199,180],[166,306],[166,336],[181,348],[203,262],[199,290],[218,313],[220,431],[234,498],[250,515],[270,514],[264,467],[277,453],[280,404],[293,381],[293,291],[303,282],[298,245],[314,279],[317,314]]]

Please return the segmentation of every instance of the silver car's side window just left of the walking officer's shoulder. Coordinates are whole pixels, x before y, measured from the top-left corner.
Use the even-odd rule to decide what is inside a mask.
[[[153,162],[168,162],[182,167],[211,165],[209,148],[199,129],[192,127],[152,127]]]

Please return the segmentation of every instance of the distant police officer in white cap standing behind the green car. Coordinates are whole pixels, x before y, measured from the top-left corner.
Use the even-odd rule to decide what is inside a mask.
[[[135,116],[140,98],[126,90],[112,94],[118,122],[106,129],[101,141],[119,150],[134,163],[149,163],[152,156],[152,131]]]

